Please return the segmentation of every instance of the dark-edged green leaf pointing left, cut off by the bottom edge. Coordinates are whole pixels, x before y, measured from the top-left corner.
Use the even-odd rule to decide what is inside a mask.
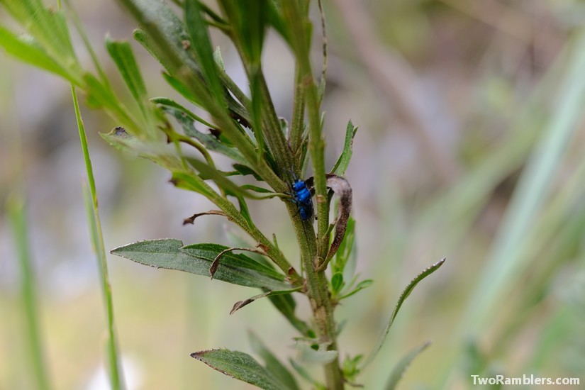
[[[264,390],[290,389],[250,355],[239,351],[206,350],[191,354],[196,360],[240,381],[253,384]]]

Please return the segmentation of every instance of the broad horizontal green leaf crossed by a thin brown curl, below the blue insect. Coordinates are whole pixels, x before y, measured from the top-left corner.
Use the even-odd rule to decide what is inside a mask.
[[[226,247],[216,244],[183,246],[181,240],[166,238],[123,245],[111,250],[113,255],[126,257],[156,268],[177,269],[192,274],[209,276],[209,267]],[[245,255],[226,253],[222,257],[214,279],[240,286],[265,289],[291,289],[284,276]]]

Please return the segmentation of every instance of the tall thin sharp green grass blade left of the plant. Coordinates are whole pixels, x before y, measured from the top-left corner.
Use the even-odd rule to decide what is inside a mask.
[[[79,140],[82,144],[83,156],[85,161],[85,168],[87,170],[87,186],[84,186],[84,199],[87,211],[87,218],[89,222],[89,230],[91,231],[91,241],[94,245],[94,250],[99,263],[99,275],[101,279],[102,294],[104,294],[104,307],[106,309],[106,321],[108,324],[108,374],[110,385],[112,389],[124,389],[123,372],[119,364],[118,347],[116,345],[116,328],[113,320],[113,301],[111,294],[111,286],[108,278],[108,264],[106,263],[106,250],[104,249],[104,236],[101,232],[101,222],[99,220],[98,202],[96,183],[94,180],[94,169],[91,167],[91,160],[89,159],[89,150],[87,147],[87,136],[82,121],[82,115],[79,111],[79,103],[77,101],[77,94],[75,89],[71,87],[71,94],[73,98],[73,106],[75,109],[75,117],[77,118],[77,129],[79,130]]]

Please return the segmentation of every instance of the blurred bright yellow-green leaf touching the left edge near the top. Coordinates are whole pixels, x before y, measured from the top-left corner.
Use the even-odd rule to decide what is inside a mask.
[[[48,72],[57,74],[60,77],[76,85],[81,84],[79,74],[72,74],[65,67],[53,60],[35,40],[27,35],[18,36],[6,28],[0,26],[0,46],[6,50],[9,55],[13,55],[22,62],[29,65],[45,69]]]

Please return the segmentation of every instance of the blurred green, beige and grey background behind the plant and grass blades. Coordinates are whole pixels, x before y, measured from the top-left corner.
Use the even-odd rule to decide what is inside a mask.
[[[119,80],[104,36],[130,39],[135,23],[112,1],[76,7],[106,71]],[[532,373],[580,377],[583,388],[585,4],[338,0],[324,7],[328,167],[351,119],[360,126],[347,171],[358,270],[375,281],[338,308],[338,321],[348,320],[341,356],[372,350],[401,289],[447,257],[403,306],[360,383],[383,389],[391,367],[431,340],[401,388],[468,389],[470,374]],[[317,9],[313,20],[318,69]],[[221,35],[213,40],[227,72],[245,83],[233,48]],[[135,48],[150,94],[174,95],[160,65]],[[4,52],[0,69],[0,202],[26,182],[50,379],[55,389],[107,388],[104,311],[69,87]],[[264,74],[279,115],[290,121],[294,62],[274,33],[264,48]],[[160,167],[108,147],[99,132],[116,123],[104,113],[84,107],[82,113],[108,250],[167,237],[233,243],[238,232],[221,218],[182,226],[183,218],[213,206],[168,184]],[[294,259],[294,233],[280,201],[249,205],[264,233],[275,233]],[[30,389],[15,238],[4,208],[0,217],[0,389]],[[294,354],[296,333],[269,301],[228,315],[235,301],[250,296],[243,287],[113,256],[108,266],[130,389],[247,389],[189,353],[250,352],[250,330],[283,359]],[[308,316],[306,302],[299,305]]]

